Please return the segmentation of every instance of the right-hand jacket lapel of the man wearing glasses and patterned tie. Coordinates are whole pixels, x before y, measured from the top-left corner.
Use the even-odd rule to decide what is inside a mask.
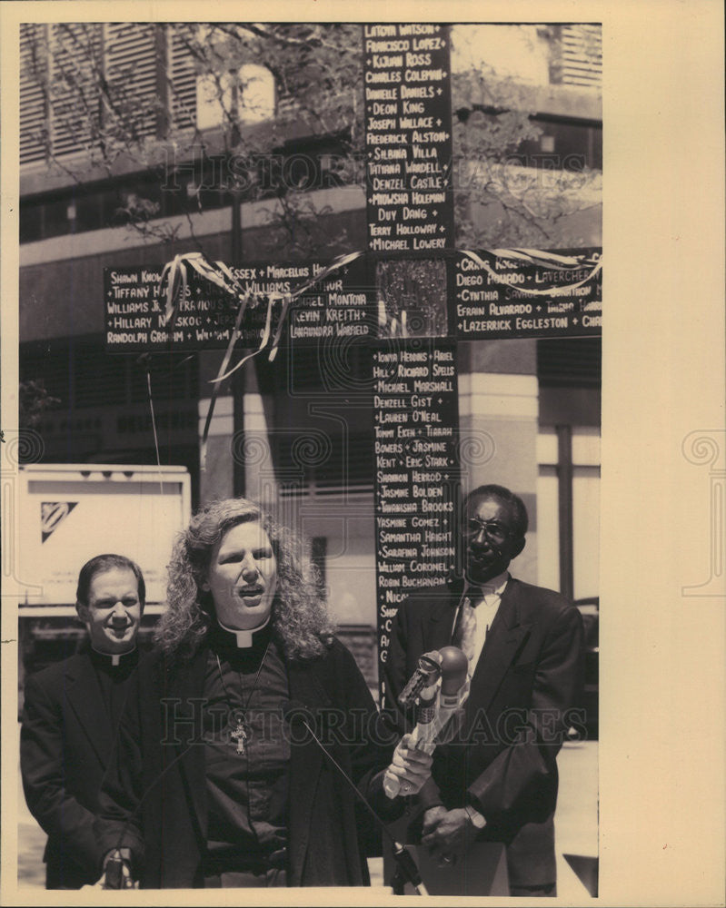
[[[489,707],[512,659],[529,636],[530,627],[529,623],[522,621],[517,581],[510,579],[474,669],[471,692],[465,706],[467,721],[472,720],[478,709]]]

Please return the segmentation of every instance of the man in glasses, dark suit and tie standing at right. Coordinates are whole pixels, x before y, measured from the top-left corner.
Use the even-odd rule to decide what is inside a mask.
[[[421,841],[439,864],[455,864],[460,879],[478,860],[477,843],[501,842],[510,893],[531,896],[556,892],[556,755],[577,723],[583,649],[578,610],[508,572],[526,530],[526,508],[509,489],[469,494],[464,578],[422,589],[400,607],[385,685],[391,707],[423,653],[453,644],[469,658],[462,725],[436,749],[432,778],[413,799]]]

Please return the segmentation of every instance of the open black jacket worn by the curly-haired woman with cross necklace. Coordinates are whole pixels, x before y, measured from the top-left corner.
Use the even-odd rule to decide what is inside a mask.
[[[144,888],[204,885],[209,798],[204,679],[210,638],[194,655],[144,660],[104,778],[97,833],[104,854],[128,847]],[[403,799],[383,794],[398,738],[386,735],[353,656],[330,638],[313,659],[285,661],[290,700],[315,721],[330,752],[387,819]],[[291,726],[286,872],[292,886],[368,884],[363,825],[353,793],[310,735]]]

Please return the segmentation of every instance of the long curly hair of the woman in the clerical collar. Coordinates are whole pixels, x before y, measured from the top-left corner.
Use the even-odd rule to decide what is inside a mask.
[[[246,498],[225,498],[204,505],[177,538],[167,568],[168,607],[154,633],[157,645],[169,656],[187,656],[202,643],[214,621],[212,594],[202,589],[212,550],[240,523],[259,523],[270,538],[277,560],[271,621],[285,656],[321,655],[325,648],[321,637],[332,633],[333,627],[303,542]]]

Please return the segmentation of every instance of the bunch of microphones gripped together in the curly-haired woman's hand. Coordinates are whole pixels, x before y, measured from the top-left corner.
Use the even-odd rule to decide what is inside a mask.
[[[411,744],[424,754],[433,754],[438,737],[454,713],[469,696],[467,669],[469,660],[458,646],[443,646],[425,653],[398,702],[402,706],[417,703],[416,725]],[[397,775],[386,774],[383,790],[393,800],[401,791]]]

